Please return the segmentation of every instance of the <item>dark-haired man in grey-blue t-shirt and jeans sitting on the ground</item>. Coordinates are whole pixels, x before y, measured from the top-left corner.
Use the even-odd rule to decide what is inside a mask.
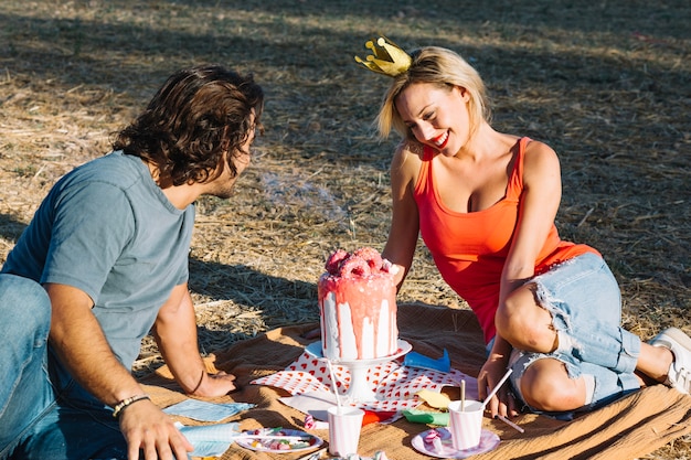
[[[151,331],[185,393],[235,388],[204,371],[188,253],[193,202],[231,195],[263,104],[252,76],[180,71],[51,190],[0,275],[0,459],[187,458],[130,370]]]

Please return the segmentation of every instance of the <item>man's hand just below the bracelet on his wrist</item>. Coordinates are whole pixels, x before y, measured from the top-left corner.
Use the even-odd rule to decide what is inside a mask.
[[[129,460],[180,460],[193,450],[172,419],[150,400],[132,403],[118,417]],[[139,457],[140,450],[143,459]]]

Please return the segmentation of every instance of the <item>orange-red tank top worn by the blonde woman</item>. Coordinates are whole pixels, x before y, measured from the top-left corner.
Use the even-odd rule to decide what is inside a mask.
[[[423,240],[444,280],[477,315],[487,343],[496,334],[495,312],[499,303],[501,271],[518,221],[523,191],[523,157],[529,141],[529,138],[519,141],[504,197],[486,210],[458,213],[442,203],[433,182],[432,160],[436,152],[432,148],[425,147],[415,184]],[[588,252],[598,254],[589,246],[563,242],[552,224],[535,260],[535,275]]]

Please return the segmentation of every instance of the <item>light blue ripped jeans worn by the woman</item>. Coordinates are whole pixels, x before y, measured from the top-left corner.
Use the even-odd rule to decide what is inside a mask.
[[[602,257],[592,253],[575,257],[527,281],[531,284],[538,302],[552,314],[560,346],[549,354],[512,353],[511,383],[519,398],[523,399],[520,378],[525,368],[545,357],[564,363],[572,378],[594,378],[592,403],[584,409],[600,407],[639,388],[634,371],[640,339],[620,327],[619,287]]]

